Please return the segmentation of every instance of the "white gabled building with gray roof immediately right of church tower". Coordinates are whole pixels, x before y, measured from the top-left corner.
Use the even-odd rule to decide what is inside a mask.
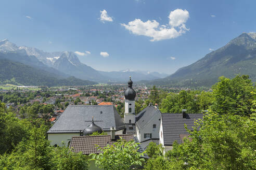
[[[159,139],[159,127],[161,120],[160,110],[149,104],[136,115],[137,137],[140,142],[149,139]]]

